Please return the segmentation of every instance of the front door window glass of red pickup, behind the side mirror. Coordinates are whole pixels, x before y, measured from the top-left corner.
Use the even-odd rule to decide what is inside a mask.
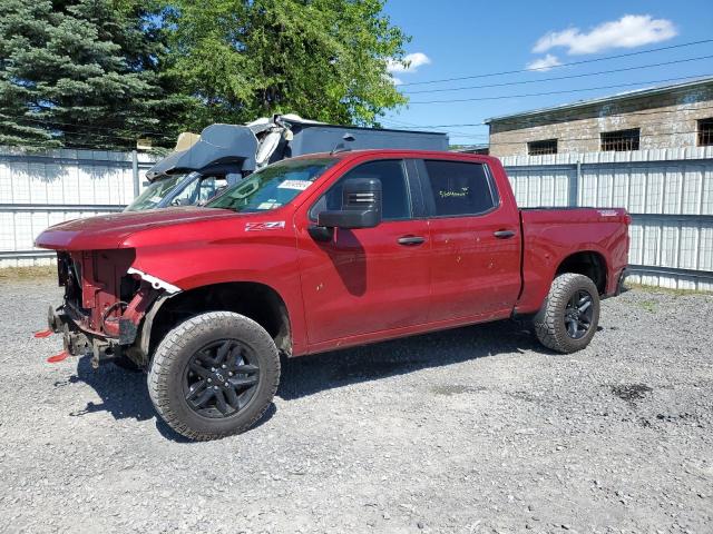
[[[382,219],[402,220],[411,218],[409,188],[403,171],[403,161],[387,159],[360,165],[334,184],[312,207],[310,218],[316,220],[320,211],[342,209],[342,184],[350,178],[377,178],[381,180]]]

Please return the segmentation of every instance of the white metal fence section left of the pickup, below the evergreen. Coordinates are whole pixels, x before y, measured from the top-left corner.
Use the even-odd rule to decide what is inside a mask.
[[[37,235],[62,220],[120,211],[153,158],[134,152],[0,147],[0,267],[48,264]]]

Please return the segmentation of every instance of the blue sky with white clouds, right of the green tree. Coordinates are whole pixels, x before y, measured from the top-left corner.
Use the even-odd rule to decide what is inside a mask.
[[[383,120],[390,128],[478,123],[488,117],[556,106],[665,85],[657,80],[713,76],[713,42],[603,60],[548,70],[460,81],[420,83],[443,78],[481,76],[526,69],[528,66],[586,61],[609,56],[713,39],[713,2],[686,1],[540,1],[484,2],[466,0],[388,0],[385,11],[394,24],[412,37],[407,52],[413,58],[407,71],[395,66],[392,76],[411,103],[391,111]],[[681,61],[624,72],[609,72],[557,81],[544,78],[593,73],[652,63]],[[420,92],[468,86],[533,81],[443,92]],[[639,83],[641,82],[641,83]],[[412,85],[416,83],[416,85]],[[448,103],[418,101],[508,97],[535,92],[567,91],[603,86],[631,87],[497,100]],[[433,128],[436,129],[436,128]],[[487,126],[441,128],[451,144],[487,141]]]

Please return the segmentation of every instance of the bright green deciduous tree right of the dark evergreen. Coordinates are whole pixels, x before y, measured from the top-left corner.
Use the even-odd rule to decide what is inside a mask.
[[[383,0],[173,3],[172,71],[193,100],[186,126],[275,112],[373,125],[406,102],[387,72],[407,37]]]

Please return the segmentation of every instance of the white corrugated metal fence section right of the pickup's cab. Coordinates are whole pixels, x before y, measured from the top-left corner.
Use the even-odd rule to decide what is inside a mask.
[[[522,207],[624,207],[634,281],[713,290],[713,147],[501,158]]]

